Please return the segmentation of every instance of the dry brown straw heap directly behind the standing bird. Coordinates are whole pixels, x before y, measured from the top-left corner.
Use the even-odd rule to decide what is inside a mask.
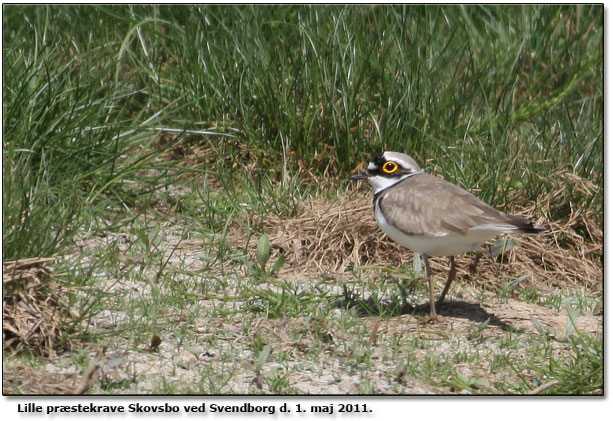
[[[573,175],[556,177],[559,182],[542,195],[536,204],[512,213],[531,217],[548,232],[538,236],[515,236],[516,246],[504,258],[482,259],[479,276],[471,276],[470,254],[458,256],[459,278],[486,287],[500,286],[500,280],[532,274],[522,285],[551,287],[583,286],[602,290],[603,230],[594,211],[572,209],[570,217],[551,220],[551,210],[567,202],[568,183],[582,193],[594,194],[596,186]],[[413,252],[394,244],[377,227],[369,194],[350,194],[340,202],[318,199],[305,203],[298,218],[270,216],[264,229],[273,248],[287,257],[286,270],[304,275],[341,275],[353,266],[381,265],[402,268],[411,262]],[[518,201],[519,202],[519,201]],[[536,216],[536,217],[535,217]],[[235,231],[230,239],[244,244],[243,232]],[[252,238],[255,249],[257,238]],[[447,270],[447,259],[432,259],[435,271]]]

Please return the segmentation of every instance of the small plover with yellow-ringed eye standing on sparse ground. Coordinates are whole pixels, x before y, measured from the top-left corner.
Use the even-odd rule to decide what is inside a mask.
[[[369,182],[379,228],[392,241],[420,253],[430,295],[428,321],[441,321],[437,307],[455,279],[455,255],[478,250],[500,233],[545,232],[544,227],[523,216],[499,211],[469,191],[424,172],[404,153],[380,153],[365,171],[349,179]],[[447,282],[436,303],[429,256],[448,256],[450,262]]]

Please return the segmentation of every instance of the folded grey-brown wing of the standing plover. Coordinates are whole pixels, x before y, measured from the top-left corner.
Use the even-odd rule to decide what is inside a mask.
[[[379,202],[388,221],[407,234],[465,234],[479,225],[500,231],[531,226],[527,219],[494,209],[472,193],[430,174],[417,174],[383,193]]]

